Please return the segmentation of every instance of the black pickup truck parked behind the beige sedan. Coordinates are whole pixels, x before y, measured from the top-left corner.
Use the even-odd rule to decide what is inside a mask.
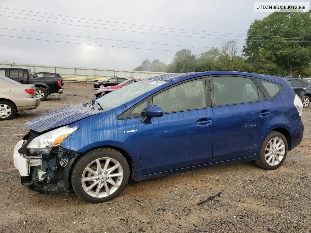
[[[0,75],[22,84],[34,84],[36,87],[36,95],[41,101],[44,101],[53,93],[63,93],[61,79],[32,77],[29,69],[0,68]]]

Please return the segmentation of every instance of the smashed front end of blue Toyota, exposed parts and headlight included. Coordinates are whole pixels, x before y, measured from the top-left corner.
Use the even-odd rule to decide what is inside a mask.
[[[14,166],[21,174],[21,184],[40,194],[68,192],[68,163],[81,153],[60,144],[77,129],[64,126],[44,134],[30,130],[14,148]]]

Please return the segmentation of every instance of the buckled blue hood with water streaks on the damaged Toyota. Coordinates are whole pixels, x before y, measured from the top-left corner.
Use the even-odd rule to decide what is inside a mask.
[[[82,103],[60,108],[48,112],[40,117],[25,123],[25,126],[37,132],[43,132],[53,128],[69,125],[86,117],[90,117],[101,111],[84,107]]]

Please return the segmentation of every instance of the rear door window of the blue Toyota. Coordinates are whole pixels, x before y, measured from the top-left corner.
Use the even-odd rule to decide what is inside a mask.
[[[216,106],[259,101],[258,87],[251,78],[240,76],[214,76]]]

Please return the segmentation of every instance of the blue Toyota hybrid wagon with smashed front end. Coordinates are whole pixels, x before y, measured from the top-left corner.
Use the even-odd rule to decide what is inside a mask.
[[[302,140],[303,105],[280,77],[235,71],[160,75],[26,123],[21,183],[91,203],[128,183],[223,163],[281,166]]]

